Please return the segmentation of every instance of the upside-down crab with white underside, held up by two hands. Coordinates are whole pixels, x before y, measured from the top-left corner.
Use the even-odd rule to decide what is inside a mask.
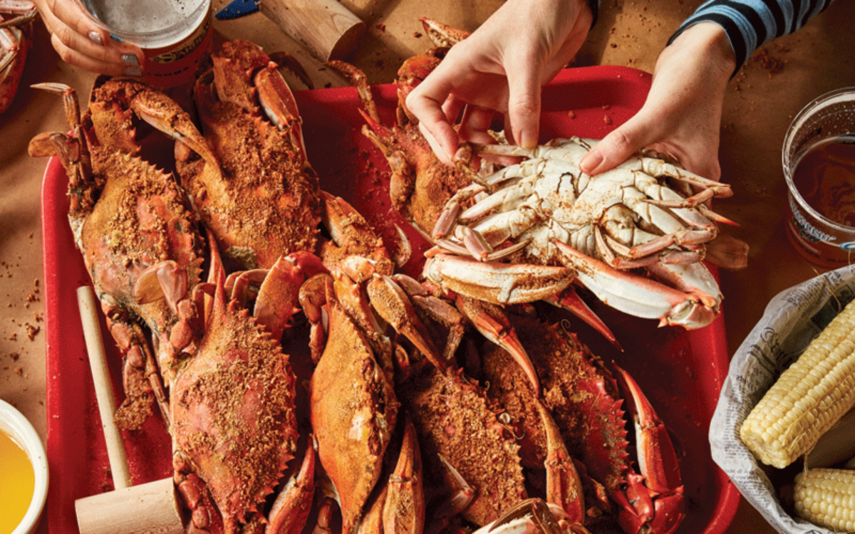
[[[722,294],[702,260],[718,235],[716,223],[730,221],[704,202],[729,197],[729,186],[642,155],[587,176],[579,161],[596,143],[481,147],[523,161],[486,179],[473,173],[474,183],[446,203],[433,228],[438,246],[425,265],[427,278],[501,304],[539,300],[575,279],[622,312],[662,325],[710,324]],[[682,192],[692,187],[701,192]],[[481,200],[460,208],[476,195]],[[636,267],[661,282],[630,272]]]

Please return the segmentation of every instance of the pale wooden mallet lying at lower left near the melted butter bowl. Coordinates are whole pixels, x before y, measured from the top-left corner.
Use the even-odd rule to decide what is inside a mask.
[[[78,288],[77,303],[115,486],[113,491],[74,502],[80,534],[183,533],[181,505],[171,478],[131,485],[125,444],[113,421],[115,400],[98,324],[97,301],[91,287]]]

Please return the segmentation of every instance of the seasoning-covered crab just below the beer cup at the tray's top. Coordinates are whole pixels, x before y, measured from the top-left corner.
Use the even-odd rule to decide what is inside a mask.
[[[221,172],[181,162],[183,185],[223,254],[242,267],[267,268],[280,255],[314,251],[318,182],[291,91],[249,41],[224,44],[212,60],[194,100]]]

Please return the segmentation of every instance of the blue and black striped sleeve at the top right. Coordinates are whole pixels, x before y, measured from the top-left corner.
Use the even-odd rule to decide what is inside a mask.
[[[708,0],[683,21],[671,44],[687,27],[715,22],[728,35],[736,55],[736,73],[760,46],[787,35],[822,13],[834,0]]]

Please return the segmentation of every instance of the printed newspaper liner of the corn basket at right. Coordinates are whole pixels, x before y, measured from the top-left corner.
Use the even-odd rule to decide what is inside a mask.
[[[855,265],[840,267],[781,291],[769,302],[730,361],[710,423],[713,461],[728,474],[746,501],[776,531],[787,534],[831,532],[793,519],[778,502],[766,470],[740,440],[740,426],[775,379],[796,360],[811,339],[855,298]]]

